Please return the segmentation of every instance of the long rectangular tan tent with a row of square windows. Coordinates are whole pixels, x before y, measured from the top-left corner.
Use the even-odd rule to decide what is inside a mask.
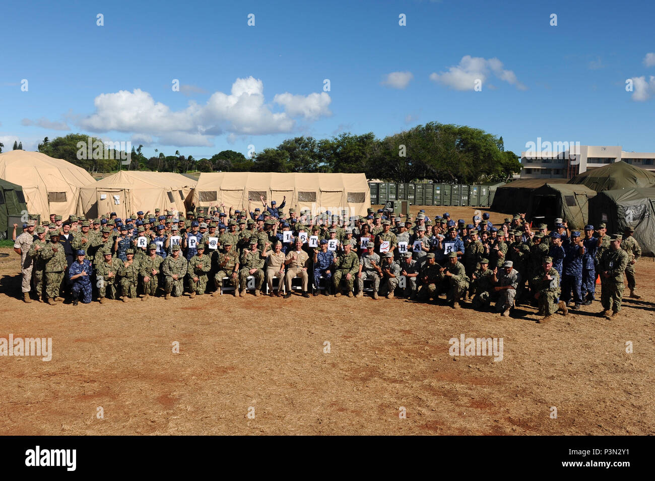
[[[193,193],[196,207],[225,204],[234,209],[262,207],[259,196],[271,205],[278,205],[286,196],[285,210],[310,209],[313,215],[322,211],[347,216],[366,215],[371,207],[371,194],[364,173],[275,173],[217,172],[201,173]]]

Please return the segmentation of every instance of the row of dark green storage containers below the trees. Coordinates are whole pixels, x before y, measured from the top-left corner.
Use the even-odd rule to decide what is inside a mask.
[[[371,205],[407,200],[411,205],[489,207],[498,185],[369,182]]]

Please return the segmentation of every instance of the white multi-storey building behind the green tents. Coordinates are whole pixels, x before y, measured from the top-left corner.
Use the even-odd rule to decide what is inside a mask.
[[[564,152],[521,152],[521,179],[571,179],[620,161],[655,172],[655,152],[625,152],[616,145],[578,145]]]

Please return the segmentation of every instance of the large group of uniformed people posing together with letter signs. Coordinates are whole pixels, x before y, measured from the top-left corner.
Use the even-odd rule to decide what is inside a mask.
[[[347,217],[284,206],[262,199],[261,208],[212,205],[185,218],[155,209],[128,219],[111,212],[97,219],[50,215],[41,226],[30,220],[14,244],[23,300],[104,304],[223,291],[290,298],[297,290],[303,297],[443,302],[445,293],[452,308],[493,304],[503,316],[521,302],[533,303],[540,322],[547,322],[555,312],[589,306],[597,277],[600,314],[618,315],[624,273],[629,296],[639,298],[634,264],[641,249],[631,228],[610,236],[605,224],[578,232],[563,219],[549,232],[520,213],[493,225],[488,213],[466,223],[447,212],[430,219],[419,211],[413,219],[369,209]]]

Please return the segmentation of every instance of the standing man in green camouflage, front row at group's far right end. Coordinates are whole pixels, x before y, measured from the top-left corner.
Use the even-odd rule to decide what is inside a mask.
[[[609,317],[610,310],[612,317],[616,317],[621,310],[621,300],[625,289],[623,273],[629,264],[629,254],[622,248],[622,236],[615,234],[610,238],[610,248],[605,251],[599,270],[601,273],[601,304],[603,317]]]

